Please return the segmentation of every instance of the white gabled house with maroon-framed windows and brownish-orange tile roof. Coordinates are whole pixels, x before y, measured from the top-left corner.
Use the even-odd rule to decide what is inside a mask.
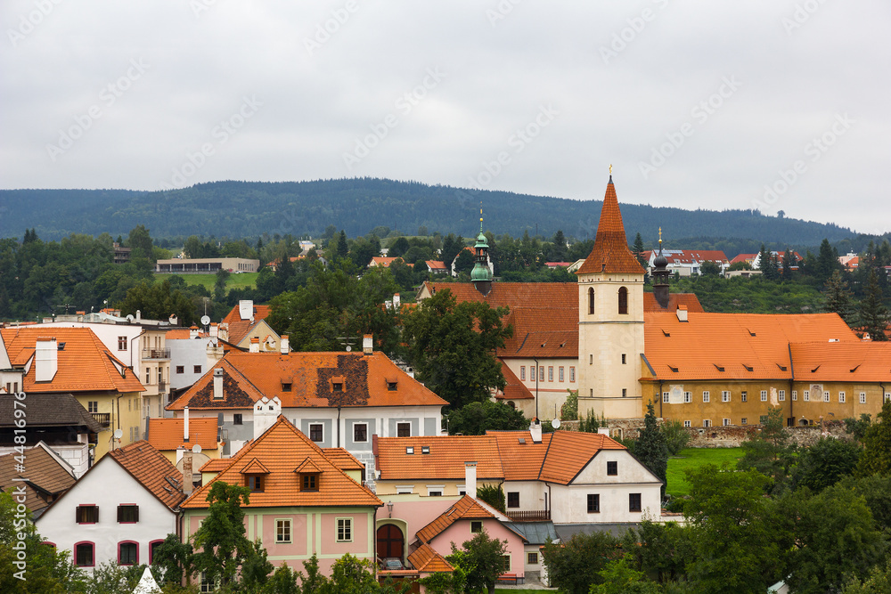
[[[86,571],[109,561],[151,564],[155,547],[179,533],[182,485],[183,474],[148,442],[130,443],[55,500],[37,518],[37,531],[46,544],[71,551],[71,562]]]

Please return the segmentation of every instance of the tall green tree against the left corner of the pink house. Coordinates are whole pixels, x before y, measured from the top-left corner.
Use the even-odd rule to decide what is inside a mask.
[[[215,482],[208,492],[208,516],[195,532],[194,571],[203,572],[208,582],[222,585],[235,580],[238,568],[252,551],[253,545],[244,535],[244,509],[250,491],[237,484]]]

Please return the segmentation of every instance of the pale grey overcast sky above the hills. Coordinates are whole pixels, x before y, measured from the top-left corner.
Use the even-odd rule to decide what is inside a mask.
[[[620,202],[891,231],[887,0],[0,15],[3,188],[373,176],[601,199],[612,164]]]

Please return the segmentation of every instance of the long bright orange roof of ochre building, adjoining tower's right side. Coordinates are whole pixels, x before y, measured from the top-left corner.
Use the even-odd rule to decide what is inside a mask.
[[[836,313],[644,313],[644,351],[656,377],[790,379],[789,343],[858,341]]]

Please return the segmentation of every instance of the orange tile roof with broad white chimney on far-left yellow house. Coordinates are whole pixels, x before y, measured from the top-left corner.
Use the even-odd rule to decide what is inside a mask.
[[[10,362],[24,367],[35,354],[37,338],[55,338],[65,347],[58,353],[58,366],[51,381],[36,382],[32,362],[25,374],[25,392],[144,392],[132,370],[111,354],[89,328],[7,328],[0,330]]]

